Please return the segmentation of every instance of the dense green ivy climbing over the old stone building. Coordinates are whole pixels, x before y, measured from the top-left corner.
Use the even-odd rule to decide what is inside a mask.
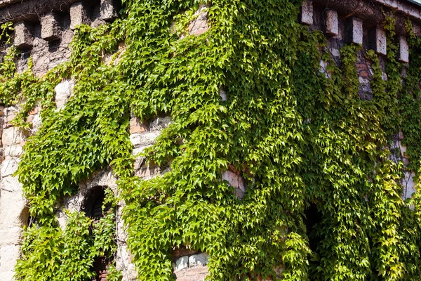
[[[210,29],[188,35],[201,4]],[[420,279],[421,198],[401,200],[400,183],[421,162],[419,39],[402,85],[393,16],[385,80],[377,55],[361,46],[343,47],[335,62],[322,34],[298,24],[298,0],[123,6],[112,24],[79,27],[71,60],[44,77],[15,74],[13,49],[1,65],[1,99],[22,104],[14,124],[28,130],[27,112],[43,107],[17,173],[38,221],[27,229],[18,280],[88,280],[95,256],[113,255],[112,239],[94,238],[112,237],[112,213],[96,235],[84,216],[69,214],[65,230],[54,218],[58,202],[107,165],[126,202],[139,280],[173,280],[171,250],[182,245],[210,254],[210,280]],[[359,97],[361,54],[372,62],[371,100]],[[55,110],[54,86],[69,78],[74,96]],[[133,176],[131,114],[171,115],[145,152],[171,164],[168,173]],[[400,130],[408,167],[396,158]],[[227,169],[245,179],[243,200],[221,181]],[[306,231],[310,205],[321,220]]]

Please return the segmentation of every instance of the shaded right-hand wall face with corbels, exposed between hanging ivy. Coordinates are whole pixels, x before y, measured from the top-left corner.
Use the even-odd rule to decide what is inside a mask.
[[[403,22],[409,18],[413,22],[415,34],[421,36],[421,7],[408,1],[323,1],[306,0],[302,4],[300,13],[300,22],[308,25],[310,30],[321,30],[328,41],[328,50],[335,63],[340,66],[340,48],[345,44],[359,44],[362,51],[357,55],[355,63],[359,74],[359,96],[365,100],[373,98],[373,89],[370,81],[373,79],[373,70],[371,63],[364,56],[366,51],[374,50],[380,58],[380,67],[382,69],[382,79],[387,80],[385,73],[385,62],[387,60],[387,40],[384,29],[385,15],[383,11],[393,11],[396,18],[396,39],[399,44],[399,60],[407,65],[409,61],[409,48],[406,30]],[[321,61],[321,72],[329,76],[326,70],[326,63]],[[405,73],[402,73],[402,79]],[[404,136],[399,133],[394,136],[394,143],[391,150],[399,149],[400,155],[394,157],[394,160],[402,161],[408,166],[410,159],[406,155],[406,147],[401,145]],[[403,184],[402,198],[411,197],[415,189],[415,174],[408,172],[401,179]]]

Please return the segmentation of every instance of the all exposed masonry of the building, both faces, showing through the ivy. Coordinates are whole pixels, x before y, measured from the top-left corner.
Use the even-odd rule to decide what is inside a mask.
[[[373,4],[374,3],[374,4]],[[60,4],[60,5],[58,5]],[[358,4],[358,6],[356,6]],[[352,8],[352,11],[349,9]],[[393,9],[398,22],[397,37],[400,51],[399,59],[403,63],[408,62],[408,44],[406,34],[403,31],[403,18],[410,17],[415,26],[417,35],[421,35],[421,9],[418,6],[403,0],[314,0],[304,1],[300,13],[300,22],[309,25],[311,30],[322,30],[326,34],[330,53],[336,63],[340,63],[340,48],[347,43],[361,44],[365,50],[373,48],[382,56],[384,66],[387,55],[385,31],[382,29],[384,17],[381,8]],[[72,40],[74,28],[81,23],[96,27],[103,22],[114,20],[119,10],[119,4],[112,0],[91,1],[15,1],[0,0],[0,23],[8,20],[13,21],[15,33],[13,44],[20,50],[18,61],[19,71],[27,67],[27,59],[32,55],[34,60],[34,72],[43,75],[51,68],[69,59],[69,43]],[[206,32],[208,24],[206,6],[200,6],[196,12],[194,22],[189,25],[189,33],[194,35]],[[374,19],[374,20],[373,20]],[[0,44],[1,45],[1,44]],[[121,45],[121,48],[124,48]],[[1,58],[1,51],[0,51]],[[108,58],[104,58],[105,61]],[[326,63],[321,61],[321,72],[329,75]],[[356,67],[359,70],[360,96],[370,100],[372,90],[370,79],[373,72],[370,63],[362,53],[358,57]],[[384,75],[384,79],[387,79]],[[55,87],[55,102],[58,110],[65,106],[67,100],[72,97],[74,81],[62,81]],[[220,94],[226,99],[225,91]],[[40,108],[36,107],[30,112],[28,121],[32,122],[32,130],[35,133],[41,124]],[[18,107],[0,107],[0,280],[13,280],[13,268],[20,257],[22,243],[22,228],[28,223],[27,201],[22,196],[22,185],[13,176],[22,155],[22,146],[25,145],[25,136],[11,126],[11,120],[18,112]],[[133,143],[133,155],[136,155],[135,174],[142,178],[152,178],[168,171],[169,167],[147,166],[145,159],[138,154],[145,148],[154,144],[156,137],[162,129],[170,124],[170,117],[156,117],[147,123],[132,117],[130,122],[131,142]],[[401,148],[406,164],[405,150],[401,145],[403,136],[396,137],[395,145]],[[414,183],[413,175],[407,174],[403,178],[406,187],[403,197],[410,197]],[[247,192],[246,184],[234,167],[229,167],[222,175],[221,181],[227,181],[236,190],[236,195],[242,198]],[[90,190],[104,186],[118,194],[116,178],[112,169],[107,168],[97,171],[91,178],[80,183],[78,194],[66,198],[62,209],[57,213],[60,226],[65,227],[66,216],[62,211],[82,211],[83,201]],[[117,235],[118,253],[117,268],[123,272],[123,280],[135,280],[135,269],[131,263],[131,254],[127,249],[126,230],[121,221],[121,209],[123,202],[117,206]],[[178,281],[204,280],[208,273],[208,255],[192,249],[174,249],[173,270]]]

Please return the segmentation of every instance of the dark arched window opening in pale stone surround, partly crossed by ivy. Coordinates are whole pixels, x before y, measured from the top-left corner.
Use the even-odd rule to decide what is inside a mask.
[[[93,218],[94,221],[99,221],[102,216],[111,208],[110,205],[105,206],[102,211],[102,204],[105,200],[105,186],[95,186],[83,200],[82,211],[85,212],[86,216]],[[95,258],[93,262],[93,269],[97,273],[95,281],[106,281],[108,274],[109,259],[105,256],[99,256]]]

